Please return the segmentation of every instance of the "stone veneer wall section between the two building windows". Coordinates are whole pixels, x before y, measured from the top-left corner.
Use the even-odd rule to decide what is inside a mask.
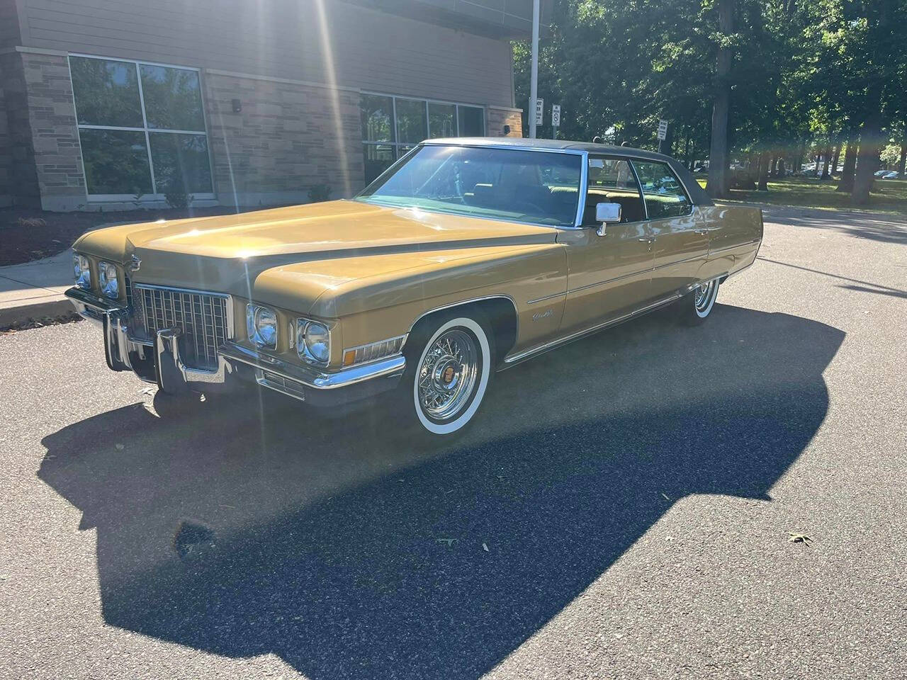
[[[358,92],[211,70],[204,82],[221,205],[307,202],[320,184],[332,199],[362,188]]]

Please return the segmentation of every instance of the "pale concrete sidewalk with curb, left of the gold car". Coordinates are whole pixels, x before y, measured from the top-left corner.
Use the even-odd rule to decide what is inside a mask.
[[[74,311],[63,291],[73,285],[73,251],[0,267],[0,327]]]

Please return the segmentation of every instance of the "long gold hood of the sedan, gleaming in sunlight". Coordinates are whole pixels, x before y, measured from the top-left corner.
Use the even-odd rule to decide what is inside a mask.
[[[449,259],[465,249],[551,244],[556,238],[554,228],[336,200],[98,229],[74,248],[124,263],[136,260],[132,277],[139,283],[243,297],[256,297],[258,279],[268,270],[296,265],[297,291],[311,300],[366,270],[374,276],[375,264],[363,267],[366,256],[397,256],[377,257],[375,263],[402,269],[432,254]]]

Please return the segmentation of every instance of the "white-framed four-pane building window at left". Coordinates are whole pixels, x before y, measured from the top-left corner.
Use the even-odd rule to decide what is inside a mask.
[[[90,199],[212,198],[196,69],[71,56]]]

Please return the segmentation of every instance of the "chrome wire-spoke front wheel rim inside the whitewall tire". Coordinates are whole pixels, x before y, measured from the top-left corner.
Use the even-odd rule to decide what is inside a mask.
[[[419,406],[436,422],[456,418],[469,403],[479,377],[481,355],[475,337],[452,328],[434,339],[419,366]]]

